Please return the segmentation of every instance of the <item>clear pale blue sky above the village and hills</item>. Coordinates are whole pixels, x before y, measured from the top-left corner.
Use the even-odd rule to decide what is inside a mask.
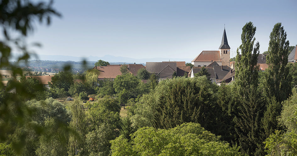
[[[218,50],[225,25],[234,57],[249,21],[260,53],[278,22],[290,46],[297,44],[296,0],[56,0],[53,6],[62,17],[36,24],[28,39],[42,44],[37,54],[194,59]]]

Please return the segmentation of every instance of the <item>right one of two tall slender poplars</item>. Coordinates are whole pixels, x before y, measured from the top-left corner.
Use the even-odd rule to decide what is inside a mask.
[[[263,119],[266,137],[272,134],[278,127],[277,117],[280,115],[282,104],[291,92],[291,81],[289,75],[288,55],[289,41],[282,23],[276,23],[270,33],[268,55],[266,63],[265,97],[267,110]]]

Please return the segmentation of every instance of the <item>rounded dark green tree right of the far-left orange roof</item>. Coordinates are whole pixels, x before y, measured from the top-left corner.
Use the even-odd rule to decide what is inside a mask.
[[[72,73],[69,71],[60,71],[52,77],[51,82],[52,83],[49,83],[51,88],[64,88],[65,91],[68,91],[70,86],[73,84]]]

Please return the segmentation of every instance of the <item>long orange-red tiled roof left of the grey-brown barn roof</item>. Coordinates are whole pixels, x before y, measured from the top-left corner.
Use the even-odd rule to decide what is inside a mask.
[[[93,68],[95,69],[96,66]],[[100,71],[98,79],[112,78],[115,79],[118,75],[122,75],[120,66],[97,66],[97,70]],[[131,73],[131,72],[130,72]]]

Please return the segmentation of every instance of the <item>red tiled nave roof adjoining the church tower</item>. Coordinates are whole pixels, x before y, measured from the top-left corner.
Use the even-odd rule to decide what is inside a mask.
[[[205,51],[203,50],[192,62],[222,62],[220,51],[213,50],[213,51]]]

